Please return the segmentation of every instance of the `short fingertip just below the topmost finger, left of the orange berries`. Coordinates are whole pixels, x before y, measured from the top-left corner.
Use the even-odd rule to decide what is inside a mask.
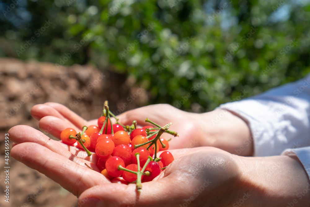
[[[34,105],[30,110],[30,114],[33,118],[37,119],[38,121],[42,119],[42,117],[44,116],[51,116],[51,115],[59,119],[65,120],[64,117],[57,110],[45,104]]]

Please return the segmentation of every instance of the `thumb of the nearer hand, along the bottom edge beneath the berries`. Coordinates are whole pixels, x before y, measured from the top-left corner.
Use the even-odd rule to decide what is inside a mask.
[[[95,186],[81,194],[77,206],[178,206],[184,202],[182,198],[188,192],[174,190],[184,187],[180,188],[178,183],[171,182],[171,178],[168,177],[161,179],[159,182],[142,183],[142,192],[140,194],[136,191],[135,184],[109,183]]]

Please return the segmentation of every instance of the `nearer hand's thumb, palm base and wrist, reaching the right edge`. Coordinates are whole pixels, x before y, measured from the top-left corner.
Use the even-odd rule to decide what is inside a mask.
[[[170,150],[169,150],[170,151]],[[309,178],[294,155],[242,157],[214,147],[171,150],[175,160],[153,181],[105,183],[84,191],[78,206],[304,207]]]

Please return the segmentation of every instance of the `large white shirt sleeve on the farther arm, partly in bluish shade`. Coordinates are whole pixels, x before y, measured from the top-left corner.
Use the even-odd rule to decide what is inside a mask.
[[[254,156],[280,155],[288,148],[310,146],[310,75],[219,108],[248,121]],[[310,148],[307,151],[310,154]]]

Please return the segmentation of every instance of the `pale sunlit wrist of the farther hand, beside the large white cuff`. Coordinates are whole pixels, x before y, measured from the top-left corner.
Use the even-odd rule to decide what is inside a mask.
[[[253,155],[253,138],[244,119],[228,110],[200,114],[201,146],[214,146],[232,154]]]

